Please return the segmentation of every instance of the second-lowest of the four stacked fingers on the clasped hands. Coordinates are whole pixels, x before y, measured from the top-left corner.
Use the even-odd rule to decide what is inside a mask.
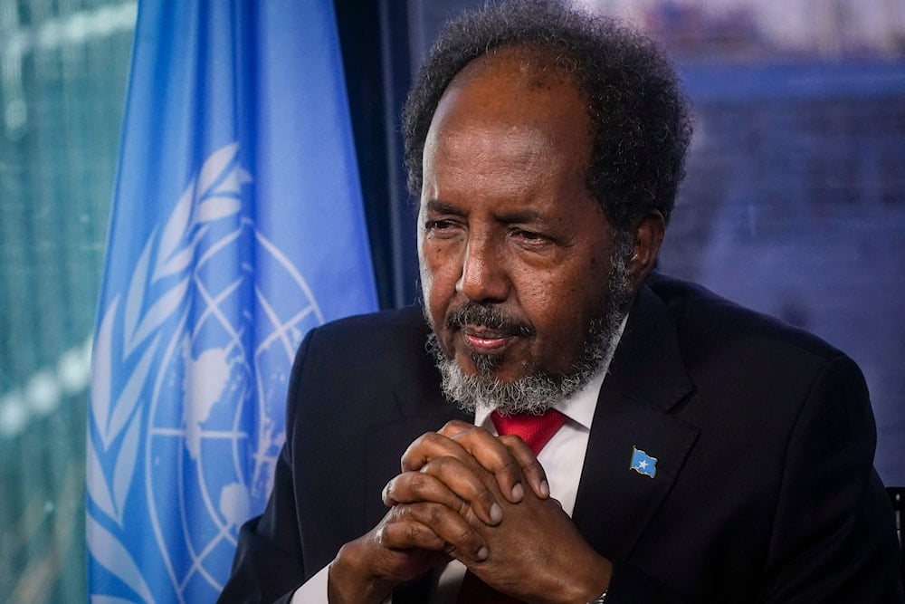
[[[382,498],[387,507],[399,503],[441,503],[466,521],[474,515],[491,526],[503,519],[502,507],[487,484],[474,474],[472,466],[454,457],[440,457],[419,472],[395,476],[384,487]]]

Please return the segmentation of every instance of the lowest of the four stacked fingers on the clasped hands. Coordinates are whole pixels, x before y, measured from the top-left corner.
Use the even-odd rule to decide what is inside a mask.
[[[392,550],[419,548],[445,551],[454,558],[485,561],[487,543],[462,516],[440,503],[395,506],[376,533],[377,542]]]

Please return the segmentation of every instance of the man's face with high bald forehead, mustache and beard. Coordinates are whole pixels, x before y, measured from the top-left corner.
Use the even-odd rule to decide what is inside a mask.
[[[585,104],[513,51],[444,93],[424,147],[425,314],[446,359],[499,382],[567,376],[605,319],[613,237],[585,184]]]

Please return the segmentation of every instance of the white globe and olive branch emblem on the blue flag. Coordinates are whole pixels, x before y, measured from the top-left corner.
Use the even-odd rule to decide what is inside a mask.
[[[239,526],[271,490],[295,350],[323,322],[304,277],[243,212],[252,175],[238,149],[205,160],[101,309],[89,550],[129,601],[219,593]],[[137,551],[159,557],[164,589]]]

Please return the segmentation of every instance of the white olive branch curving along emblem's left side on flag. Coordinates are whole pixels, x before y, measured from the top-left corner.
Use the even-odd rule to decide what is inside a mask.
[[[148,237],[129,280],[124,306],[120,307],[119,292],[100,321],[91,365],[88,494],[97,509],[120,530],[125,529],[127,499],[137,466],[143,415],[139,407],[157,357],[161,338],[158,330],[185,300],[195,250],[212,223],[241,209],[239,194],[251,177],[236,161],[238,149],[238,143],[233,142],[205,160],[176,203],[163,231],[158,235],[154,229]],[[162,283],[164,280],[166,284]],[[157,295],[161,289],[163,292]],[[114,363],[114,355],[119,351],[114,346],[118,327],[122,333],[121,353]],[[131,368],[118,393],[113,392],[114,367]],[[112,474],[104,470],[102,458],[115,459]],[[122,542],[93,514],[88,514],[86,522],[88,546],[94,559],[142,599],[154,601],[138,565]],[[105,599],[92,596],[92,601],[99,598]]]

